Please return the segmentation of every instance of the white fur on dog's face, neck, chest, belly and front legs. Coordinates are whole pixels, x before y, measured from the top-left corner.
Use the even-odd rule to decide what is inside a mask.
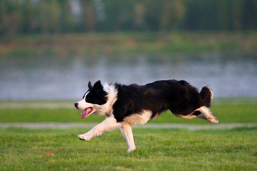
[[[120,128],[122,134],[127,140],[128,144],[128,152],[131,152],[136,149],[133,139],[133,133],[132,133],[132,127],[131,124],[145,124],[151,117],[151,113],[149,111],[144,111],[142,114],[136,114],[132,115],[130,117],[126,117],[127,121],[117,123],[116,119],[113,115],[113,104],[117,100],[117,89],[114,85],[105,83],[104,90],[108,93],[107,102],[103,105],[97,105],[97,104],[91,104],[87,103],[85,101],[85,98],[81,101],[78,101],[79,103],[78,108],[79,109],[86,109],[87,107],[93,107],[93,112],[96,115],[105,115],[107,112],[109,113],[110,117],[105,118],[105,120],[98,125],[96,125],[94,128],[92,128],[90,131],[88,131],[85,134],[78,135],[78,138],[81,140],[89,141],[91,138],[96,137],[104,133],[105,131],[111,131],[115,128]],[[91,113],[93,113],[91,112]]]

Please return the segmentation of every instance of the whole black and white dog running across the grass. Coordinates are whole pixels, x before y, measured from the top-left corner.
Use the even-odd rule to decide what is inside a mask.
[[[87,133],[79,135],[80,140],[88,141],[105,131],[120,128],[127,140],[128,152],[133,151],[136,147],[131,126],[156,119],[168,109],[176,117],[218,123],[208,109],[213,97],[210,86],[203,86],[199,93],[196,87],[184,80],[161,80],[144,86],[102,85],[99,80],[93,86],[89,82],[88,88],[83,99],[74,104],[77,109],[84,110],[81,119],[91,113],[107,117]]]

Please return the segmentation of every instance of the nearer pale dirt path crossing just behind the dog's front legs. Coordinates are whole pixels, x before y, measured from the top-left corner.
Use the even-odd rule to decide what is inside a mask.
[[[67,129],[67,128],[92,128],[97,123],[58,123],[58,122],[20,122],[20,123],[0,123],[0,128],[27,128],[27,129]],[[242,127],[257,127],[257,123],[219,123],[219,124],[145,124],[136,125],[133,128],[162,128],[162,129],[233,129]]]

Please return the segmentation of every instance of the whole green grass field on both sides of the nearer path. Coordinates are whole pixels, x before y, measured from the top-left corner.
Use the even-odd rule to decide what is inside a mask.
[[[5,104],[9,102],[0,102],[0,106]],[[210,109],[219,123],[257,123],[256,99],[238,99],[236,103],[223,99],[214,101]],[[99,123],[103,119],[95,115],[80,119],[80,111],[70,108],[0,109],[0,123]],[[150,123],[211,124],[180,119],[170,112]],[[256,127],[199,131],[137,128],[133,129],[136,150],[132,153],[126,152],[127,143],[119,129],[80,141],[77,135],[89,129],[0,129],[0,170],[257,170]],[[44,155],[50,151],[54,155]]]

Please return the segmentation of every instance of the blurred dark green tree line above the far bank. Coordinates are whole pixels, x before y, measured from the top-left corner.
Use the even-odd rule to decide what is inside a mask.
[[[0,33],[255,30],[256,0],[1,0]]]

